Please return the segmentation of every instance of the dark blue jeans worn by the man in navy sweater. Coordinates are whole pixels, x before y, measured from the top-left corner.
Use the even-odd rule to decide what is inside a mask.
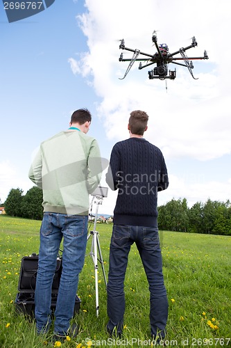
[[[108,331],[123,331],[125,296],[123,283],[130,246],[135,242],[144,265],[150,291],[151,336],[164,338],[168,317],[168,300],[162,274],[162,254],[157,226],[114,225],[110,243],[108,274]]]

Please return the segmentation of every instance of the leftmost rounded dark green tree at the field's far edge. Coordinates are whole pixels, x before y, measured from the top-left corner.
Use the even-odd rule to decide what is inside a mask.
[[[6,214],[10,216],[21,216],[22,193],[22,189],[19,188],[10,190],[4,203]]]

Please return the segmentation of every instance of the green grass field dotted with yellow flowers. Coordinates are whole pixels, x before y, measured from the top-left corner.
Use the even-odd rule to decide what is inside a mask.
[[[35,323],[15,313],[21,259],[38,253],[39,230],[40,221],[0,216],[0,347],[53,347],[51,335],[37,336]],[[97,230],[108,274],[112,225],[97,224]],[[87,253],[91,241],[87,243]],[[231,347],[231,340],[228,340],[231,332],[231,237],[160,231],[160,241],[169,297],[167,345]],[[87,346],[87,339],[92,340],[93,347],[150,346],[148,283],[135,246],[130,251],[126,273],[125,329],[120,342],[108,340],[105,331],[107,296],[101,268],[99,281],[97,318],[94,264],[88,255],[78,286],[80,312],[74,317],[80,334],[62,347],[78,347],[80,343]]]

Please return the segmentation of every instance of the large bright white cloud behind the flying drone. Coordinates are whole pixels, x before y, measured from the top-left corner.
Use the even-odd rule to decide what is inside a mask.
[[[98,110],[105,120],[108,138],[118,141],[127,136],[130,111],[144,109],[150,116],[146,136],[155,139],[166,156],[205,160],[230,153],[230,73],[225,58],[231,53],[226,30],[231,17],[229,1],[223,6],[208,0],[196,0],[192,6],[182,0],[171,1],[166,8],[166,3],[158,0],[146,0],[142,6],[132,0],[101,0],[97,4],[87,0],[86,6],[88,12],[78,16],[78,21],[87,36],[89,51],[80,60],[78,73],[92,81],[102,98]],[[194,62],[197,80],[191,78],[187,68],[176,66],[177,78],[167,81],[166,93],[165,81],[149,80],[148,68],[138,70],[138,63],[126,79],[118,79],[128,64],[119,62],[121,50],[116,39],[124,38],[126,47],[152,53],[153,29],[159,29],[158,42],[166,42],[170,52],[187,47],[191,37],[196,36],[198,47],[187,51],[187,55],[203,56],[205,49],[209,54],[209,61]],[[225,54],[221,54],[221,47]]]

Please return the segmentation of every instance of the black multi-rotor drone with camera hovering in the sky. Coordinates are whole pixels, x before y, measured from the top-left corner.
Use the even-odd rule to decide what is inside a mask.
[[[208,59],[209,57],[207,56],[207,52],[204,52],[204,56],[201,57],[187,57],[185,54],[185,51],[187,49],[190,49],[191,47],[196,47],[197,42],[195,36],[192,38],[191,45],[187,47],[182,47],[178,49],[178,51],[169,53],[169,47],[166,44],[160,44],[158,45],[157,43],[157,35],[156,31],[153,31],[152,35],[152,41],[155,44],[155,47],[157,49],[157,52],[155,54],[147,54],[144,52],[141,52],[139,49],[130,49],[128,47],[125,47],[124,40],[120,40],[120,45],[119,49],[125,49],[126,51],[133,52],[132,58],[123,58],[123,53],[121,53],[119,57],[120,62],[130,62],[128,65],[128,68],[121,80],[124,79],[128,72],[130,71],[130,68],[132,68],[132,65],[135,63],[135,61],[139,61],[139,70],[144,69],[150,65],[156,64],[156,67],[153,70],[148,71],[148,78],[149,79],[171,79],[174,80],[176,79],[176,69],[175,70],[169,70],[168,69],[168,64],[173,63],[177,65],[182,65],[184,67],[187,67],[191,77],[196,79],[194,77],[194,74],[192,72],[192,69],[194,68],[194,65],[192,61],[199,60],[199,59]],[[176,54],[180,54],[180,57],[176,57]],[[146,58],[138,58],[139,55],[146,56]],[[179,63],[176,61],[184,61],[184,63]],[[144,65],[142,65],[142,62],[146,62]]]

